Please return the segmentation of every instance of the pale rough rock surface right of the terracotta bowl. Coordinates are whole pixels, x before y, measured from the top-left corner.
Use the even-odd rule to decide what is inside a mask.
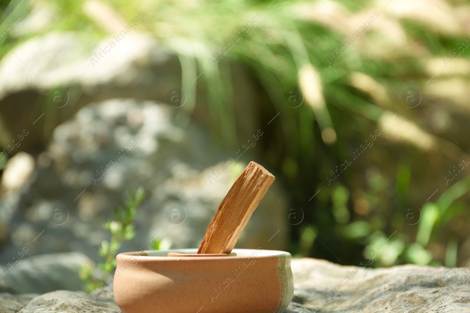
[[[470,312],[468,268],[369,269],[304,258],[292,261],[292,272],[288,312]]]

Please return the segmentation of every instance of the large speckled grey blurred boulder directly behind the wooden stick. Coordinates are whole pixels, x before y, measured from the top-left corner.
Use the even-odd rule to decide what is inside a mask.
[[[101,261],[99,245],[109,239],[102,224],[113,218],[125,191],[139,186],[147,196],[137,212],[137,235],[120,251],[153,248],[152,239],[197,247],[246,163],[240,158],[228,166],[234,156],[213,144],[217,139],[201,122],[177,126],[176,112],[155,101],[110,99],[57,126],[21,187],[0,198],[11,234],[0,261],[23,247],[28,255],[75,251]],[[274,182],[237,247],[285,249],[286,206]]]

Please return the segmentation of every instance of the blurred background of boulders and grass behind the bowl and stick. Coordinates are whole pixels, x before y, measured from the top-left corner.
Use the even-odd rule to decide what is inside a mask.
[[[79,290],[115,252],[197,247],[251,160],[276,180],[238,248],[470,266],[469,2],[0,13],[0,290]]]

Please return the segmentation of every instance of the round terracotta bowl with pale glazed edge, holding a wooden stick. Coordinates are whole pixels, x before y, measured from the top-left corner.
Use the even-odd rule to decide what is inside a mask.
[[[197,249],[118,254],[113,290],[123,313],[282,313],[292,299],[288,252],[234,249],[223,257],[170,252]]]

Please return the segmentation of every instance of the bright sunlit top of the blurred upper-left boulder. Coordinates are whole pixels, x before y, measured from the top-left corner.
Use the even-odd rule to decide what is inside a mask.
[[[139,63],[136,58],[147,60],[154,53],[155,40],[146,34],[132,34],[99,64],[92,64],[90,58],[110,40],[112,37],[104,38],[90,47],[76,32],[50,32],[25,41],[0,61],[0,99],[25,88],[48,91],[55,86],[70,86],[78,78],[85,91],[91,91],[97,85],[127,85],[144,75],[134,63]],[[128,46],[133,46],[132,52]],[[161,53],[159,58],[167,61],[168,56]],[[25,70],[25,65],[30,70]],[[13,72],[15,75],[8,80],[7,74]]]

